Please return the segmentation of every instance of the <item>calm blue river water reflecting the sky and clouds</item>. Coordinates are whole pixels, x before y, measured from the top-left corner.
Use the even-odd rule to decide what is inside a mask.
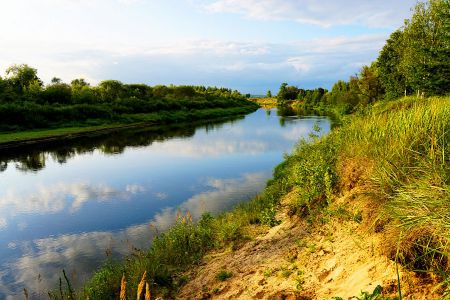
[[[138,129],[0,157],[0,299],[80,285],[108,255],[148,247],[178,210],[218,213],[261,191],[323,117],[260,109],[221,124]]]

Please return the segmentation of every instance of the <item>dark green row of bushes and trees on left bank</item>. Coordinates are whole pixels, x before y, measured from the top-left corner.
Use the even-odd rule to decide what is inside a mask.
[[[148,86],[105,80],[91,86],[53,78],[44,85],[37,70],[13,65],[0,77],[0,130],[79,125],[95,120],[121,121],[127,116],[211,108],[252,106],[238,91],[204,86]]]

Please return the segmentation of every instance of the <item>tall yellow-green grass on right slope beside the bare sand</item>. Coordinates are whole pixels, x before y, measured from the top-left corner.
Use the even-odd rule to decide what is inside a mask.
[[[371,192],[391,220],[390,252],[416,271],[450,271],[450,98],[378,103],[336,134],[341,155],[374,163]]]

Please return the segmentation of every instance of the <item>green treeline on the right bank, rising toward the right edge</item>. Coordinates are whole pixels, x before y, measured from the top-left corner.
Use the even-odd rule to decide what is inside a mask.
[[[418,3],[410,20],[391,34],[378,58],[331,91],[281,85],[280,104],[298,100],[304,107],[337,107],[350,113],[382,99],[428,97],[450,92],[450,1]]]

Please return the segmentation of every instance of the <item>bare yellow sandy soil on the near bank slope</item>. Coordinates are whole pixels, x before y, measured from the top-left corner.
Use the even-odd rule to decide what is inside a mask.
[[[362,191],[350,187],[314,225],[288,216],[286,203],[295,193],[287,195],[277,216],[280,225],[259,226],[263,232],[240,249],[205,257],[187,274],[190,281],[177,298],[356,299],[377,285],[383,295],[398,296],[396,264],[382,254],[384,234],[374,232],[373,201]],[[219,281],[221,271],[231,278]],[[404,299],[439,298],[432,279],[401,268],[399,276]]]

